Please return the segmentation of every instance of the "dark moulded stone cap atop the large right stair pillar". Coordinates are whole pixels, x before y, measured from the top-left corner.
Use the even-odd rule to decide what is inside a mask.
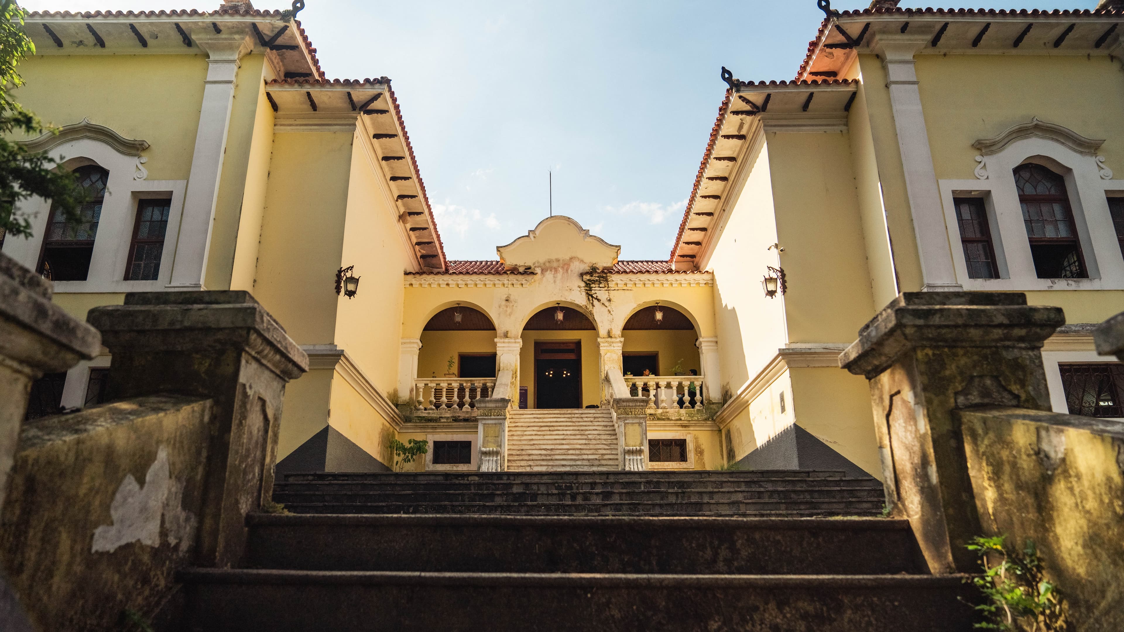
[[[840,366],[872,379],[915,347],[1034,347],[1066,323],[1019,292],[905,292],[859,330]]]

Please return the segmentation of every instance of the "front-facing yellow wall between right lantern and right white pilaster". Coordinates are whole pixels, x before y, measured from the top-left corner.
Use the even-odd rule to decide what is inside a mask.
[[[767,134],[789,342],[850,342],[874,313],[844,132]]]

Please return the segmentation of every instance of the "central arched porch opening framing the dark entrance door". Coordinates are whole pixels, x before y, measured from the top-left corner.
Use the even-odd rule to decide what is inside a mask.
[[[523,327],[519,406],[580,409],[600,400],[597,326],[561,302],[534,312]]]

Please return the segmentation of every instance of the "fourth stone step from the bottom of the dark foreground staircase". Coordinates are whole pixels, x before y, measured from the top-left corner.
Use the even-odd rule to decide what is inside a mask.
[[[688,470],[690,471],[690,470]],[[638,473],[637,473],[638,474]],[[703,479],[703,478],[632,478],[607,479],[590,478],[584,480],[490,480],[487,477],[475,479],[436,479],[414,480],[409,475],[384,480],[298,480],[278,483],[274,491],[289,492],[527,492],[550,494],[558,492],[627,492],[659,489],[709,489],[709,491],[754,491],[754,489],[807,489],[823,486],[852,489],[872,489],[882,493],[882,484],[873,478],[744,478],[744,479]]]

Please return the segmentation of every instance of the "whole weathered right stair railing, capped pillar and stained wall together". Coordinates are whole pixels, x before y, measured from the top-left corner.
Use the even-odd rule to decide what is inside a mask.
[[[1051,410],[1041,348],[1064,322],[1021,293],[905,293],[840,365],[870,381],[887,505],[932,573],[978,573],[977,535],[1033,541],[1075,629],[1122,630],[1124,423]],[[1124,313],[1094,337],[1124,360]]]

